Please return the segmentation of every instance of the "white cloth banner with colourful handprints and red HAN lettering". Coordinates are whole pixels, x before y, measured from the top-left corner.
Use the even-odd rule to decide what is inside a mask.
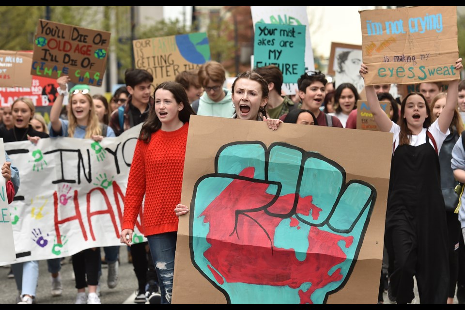
[[[49,138],[37,145],[4,144],[20,176],[9,206],[16,262],[121,245],[124,195],[140,127],[101,142]],[[146,240],[140,231],[138,218],[135,243]]]

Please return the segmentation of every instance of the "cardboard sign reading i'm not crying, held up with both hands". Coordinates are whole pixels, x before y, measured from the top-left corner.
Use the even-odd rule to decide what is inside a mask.
[[[366,85],[460,79],[456,6],[367,10],[360,19]]]

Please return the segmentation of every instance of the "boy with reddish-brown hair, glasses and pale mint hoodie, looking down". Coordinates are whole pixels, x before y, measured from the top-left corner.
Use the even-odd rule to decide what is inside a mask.
[[[199,69],[199,82],[205,90],[200,99],[192,102],[197,115],[233,117],[231,91],[223,88],[226,71],[219,62],[205,62]]]

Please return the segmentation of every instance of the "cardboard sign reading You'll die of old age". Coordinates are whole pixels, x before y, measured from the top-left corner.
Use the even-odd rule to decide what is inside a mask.
[[[39,19],[31,74],[55,79],[67,75],[77,84],[102,86],[109,43],[108,31]]]

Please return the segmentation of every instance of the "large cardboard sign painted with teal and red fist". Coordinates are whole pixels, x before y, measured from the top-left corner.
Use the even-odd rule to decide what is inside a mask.
[[[390,133],[191,116],[172,303],[375,304],[391,147]]]

